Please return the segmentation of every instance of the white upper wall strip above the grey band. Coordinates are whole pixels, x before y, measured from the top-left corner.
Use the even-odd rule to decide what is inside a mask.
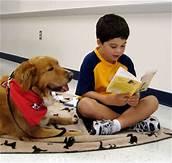
[[[170,2],[171,0],[0,0],[0,13],[33,12],[81,7]]]

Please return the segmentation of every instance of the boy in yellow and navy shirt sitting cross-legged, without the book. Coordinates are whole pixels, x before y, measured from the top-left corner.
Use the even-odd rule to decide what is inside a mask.
[[[114,134],[134,125],[140,131],[146,125],[144,119],[157,110],[157,98],[106,93],[107,85],[120,66],[136,75],[133,62],[123,54],[129,36],[128,24],[118,15],[104,15],[97,22],[96,36],[98,47],[84,58],[80,69],[76,94],[83,98],[78,102],[78,113],[87,120],[87,127],[90,127],[89,120],[94,120],[92,134]],[[138,123],[140,121],[142,123]],[[151,130],[147,126],[142,131]]]

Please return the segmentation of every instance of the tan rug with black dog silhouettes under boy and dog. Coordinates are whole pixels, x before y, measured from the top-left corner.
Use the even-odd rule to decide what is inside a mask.
[[[76,97],[71,95],[70,97],[69,95],[64,95],[65,98],[61,95],[58,96],[58,98],[59,97],[60,100],[56,99],[62,104],[61,111],[67,113],[72,112],[71,116],[76,114]],[[69,137],[61,136],[47,139],[31,139],[29,141],[21,141],[15,139],[14,137],[3,135],[0,136],[0,153],[69,153],[98,151],[137,146],[147,143],[156,143],[164,139],[172,138],[172,130],[164,127],[161,127],[159,132],[152,134],[142,134],[126,129],[114,135],[100,136],[90,135],[82,119],[78,119],[76,124],[63,125],[60,127],[64,127],[66,130],[78,130],[82,133],[82,135]]]

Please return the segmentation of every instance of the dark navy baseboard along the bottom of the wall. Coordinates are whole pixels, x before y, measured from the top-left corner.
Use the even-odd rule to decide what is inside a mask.
[[[3,53],[3,52],[0,52],[0,58],[6,59],[12,62],[16,62],[16,63],[21,63],[23,61],[28,60],[28,58],[20,57],[15,54]],[[78,80],[79,71],[72,70],[69,68],[66,68],[66,69],[74,73],[74,77],[73,77],[74,80]],[[149,88],[147,91],[141,94],[141,96],[146,96],[146,95],[154,95],[158,98],[160,104],[172,107],[172,93]]]

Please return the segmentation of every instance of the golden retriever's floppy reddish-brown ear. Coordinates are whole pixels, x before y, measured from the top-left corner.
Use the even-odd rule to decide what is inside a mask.
[[[21,85],[23,90],[29,90],[34,82],[33,78],[36,75],[36,67],[25,61],[19,65],[14,72],[14,79]]]

